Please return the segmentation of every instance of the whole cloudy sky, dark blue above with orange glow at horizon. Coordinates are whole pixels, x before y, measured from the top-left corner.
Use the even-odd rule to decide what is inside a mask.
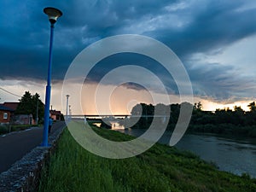
[[[255,1],[2,0],[0,102],[17,101],[26,90],[32,94],[38,92],[44,101],[49,54],[49,21],[43,13],[45,7],[63,12],[55,24],[51,104],[56,109],[63,110],[61,86],[73,59],[90,44],[120,34],[148,36],[172,49],[189,74],[195,102],[203,102],[206,110],[234,103],[246,107],[256,100]],[[165,70],[148,58],[129,54],[113,55],[102,61],[102,65],[90,73],[87,93],[96,89],[95,84],[105,73],[124,61],[150,68],[164,81],[170,96],[178,98],[174,81],[166,76]],[[75,93],[72,87],[70,89],[70,102],[75,111],[77,104],[72,101]],[[124,93],[131,96],[125,98],[126,107],[135,103],[132,101],[151,101],[141,86],[125,84],[116,89],[113,103],[121,103],[119,100]],[[178,99],[173,101],[178,102]],[[87,108],[89,104],[90,101],[84,103]],[[118,109],[120,105],[113,104],[113,110],[120,113],[123,110]]]

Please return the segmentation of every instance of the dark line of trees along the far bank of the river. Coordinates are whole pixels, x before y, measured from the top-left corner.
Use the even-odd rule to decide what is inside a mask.
[[[225,135],[236,135],[245,137],[256,137],[256,105],[251,102],[247,105],[249,111],[244,111],[240,106],[235,106],[234,110],[230,108],[216,109],[215,111],[202,110],[201,102],[194,105],[188,102],[181,104],[171,104],[166,106],[170,108],[171,113],[167,129],[174,129],[183,104],[190,105],[192,116],[189,123],[189,132],[217,133]],[[163,105],[163,104],[158,104]],[[131,110],[131,117],[134,115],[152,115],[154,116],[155,106],[152,104],[140,103]],[[142,117],[136,125],[131,128],[147,129],[151,124],[153,117]]]

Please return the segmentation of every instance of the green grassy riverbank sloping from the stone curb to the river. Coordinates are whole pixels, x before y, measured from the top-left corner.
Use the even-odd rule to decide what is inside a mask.
[[[113,141],[133,137],[116,131],[95,129]],[[220,172],[195,154],[155,144],[144,154],[125,160],[90,154],[66,129],[55,154],[44,166],[39,192],[167,192],[256,191],[256,179]]]

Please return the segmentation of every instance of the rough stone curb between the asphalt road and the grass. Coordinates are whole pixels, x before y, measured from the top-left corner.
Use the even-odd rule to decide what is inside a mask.
[[[50,137],[50,147],[33,148],[21,160],[15,162],[7,172],[0,174],[0,191],[32,192],[37,191],[42,167],[55,151],[58,139],[66,126],[56,130]]]

